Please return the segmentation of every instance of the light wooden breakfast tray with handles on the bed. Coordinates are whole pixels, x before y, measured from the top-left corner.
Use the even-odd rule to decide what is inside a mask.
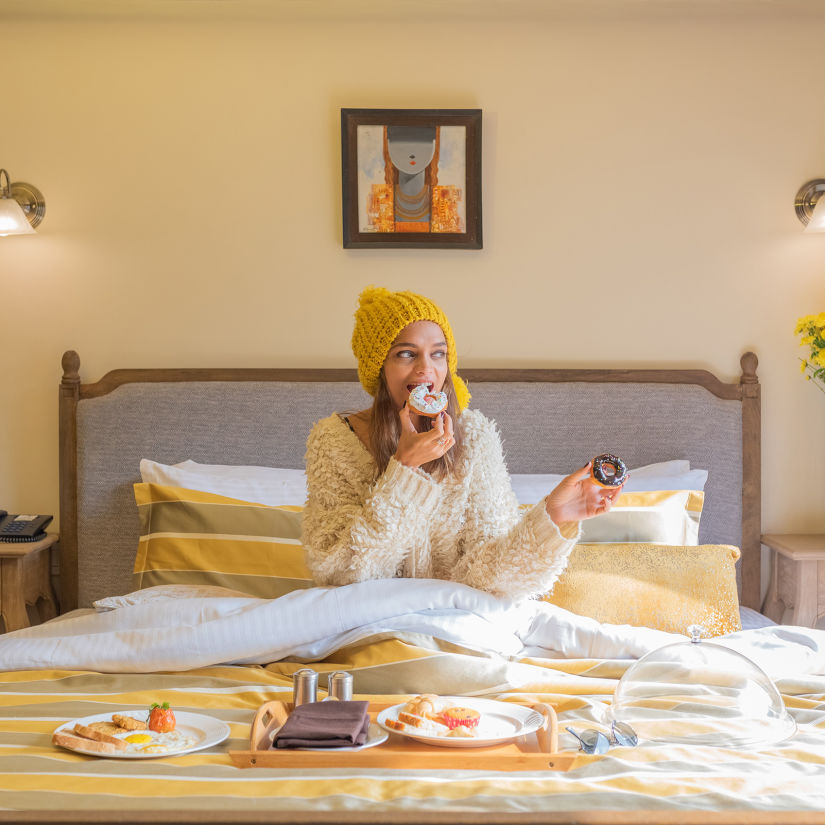
[[[370,702],[374,721],[378,713],[392,707]],[[559,753],[556,712],[544,703],[530,705],[544,717],[535,733],[519,736],[507,744],[480,748],[450,748],[427,745],[397,733],[372,748],[336,753],[328,751],[275,749],[272,737],[289,717],[292,704],[266,702],[252,722],[248,751],[229,751],[239,768],[428,768],[430,770],[567,771],[576,761],[575,753]]]

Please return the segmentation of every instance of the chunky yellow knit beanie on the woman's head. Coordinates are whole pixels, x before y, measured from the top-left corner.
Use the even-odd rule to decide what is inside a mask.
[[[368,286],[358,298],[352,352],[358,359],[358,378],[372,396],[378,391],[378,375],[392,342],[404,327],[414,321],[433,321],[441,327],[447,341],[447,365],[453,376],[458,408],[470,402],[470,391],[458,377],[458,359],[450,322],[429,298],[414,292],[390,292],[383,287]]]

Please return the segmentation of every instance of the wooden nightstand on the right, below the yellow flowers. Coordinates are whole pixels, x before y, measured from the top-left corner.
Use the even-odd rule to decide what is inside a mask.
[[[762,544],[771,551],[762,612],[780,624],[813,627],[825,613],[825,535],[770,534],[762,536]]]

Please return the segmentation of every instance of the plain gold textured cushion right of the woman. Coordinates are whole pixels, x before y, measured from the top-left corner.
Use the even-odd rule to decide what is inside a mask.
[[[579,544],[545,600],[606,624],[720,636],[742,629],[739,555],[726,544]]]

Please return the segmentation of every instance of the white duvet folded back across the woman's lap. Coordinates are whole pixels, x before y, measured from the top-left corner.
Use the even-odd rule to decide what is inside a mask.
[[[174,593],[0,636],[0,669],[148,673],[313,660],[378,633],[432,636],[513,661],[635,659],[685,640],[649,628],[599,624],[545,602],[510,602],[426,579],[319,587],[273,600],[190,598],[180,588]],[[713,641],[748,656],[775,680],[825,675],[825,631],[777,625]]]

